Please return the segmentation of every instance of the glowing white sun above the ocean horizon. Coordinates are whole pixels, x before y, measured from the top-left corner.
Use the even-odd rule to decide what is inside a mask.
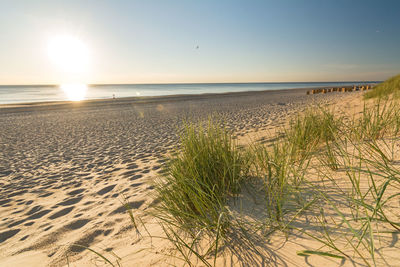
[[[87,45],[71,35],[52,37],[48,42],[48,55],[59,70],[66,73],[82,73],[88,68]]]

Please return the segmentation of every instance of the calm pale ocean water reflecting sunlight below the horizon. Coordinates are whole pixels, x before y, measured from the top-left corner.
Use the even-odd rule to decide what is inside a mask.
[[[115,96],[162,96],[244,91],[263,91],[296,88],[319,88],[375,84],[373,82],[312,82],[312,83],[207,83],[207,84],[118,84],[87,85],[79,99],[106,99]],[[58,85],[1,85],[0,104],[76,100]],[[82,86],[78,87],[82,88]],[[78,89],[81,90],[81,89]]]

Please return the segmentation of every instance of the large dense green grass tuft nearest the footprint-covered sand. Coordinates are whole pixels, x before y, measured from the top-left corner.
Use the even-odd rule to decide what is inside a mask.
[[[180,141],[156,184],[158,218],[188,232],[226,228],[221,214],[227,199],[240,193],[248,170],[245,154],[226,129],[211,121],[200,127],[186,125]]]

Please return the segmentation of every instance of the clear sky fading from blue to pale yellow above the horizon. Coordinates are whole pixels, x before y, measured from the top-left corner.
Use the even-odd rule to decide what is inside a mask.
[[[0,84],[377,81],[400,73],[395,0],[0,6]],[[78,40],[84,54],[64,52],[74,47],[67,42],[56,47],[57,64],[49,43],[59,36]]]

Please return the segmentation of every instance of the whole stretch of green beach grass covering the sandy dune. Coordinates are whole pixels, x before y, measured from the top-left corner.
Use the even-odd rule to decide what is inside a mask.
[[[188,123],[156,182],[152,215],[189,266],[216,266],[233,234],[250,249],[251,235],[276,231],[321,244],[299,256],[380,265],[382,236],[400,231],[399,122],[394,99],[365,102],[353,117],[319,107],[293,118],[279,138],[245,148],[220,123]],[[262,193],[259,221],[232,212],[247,186]]]

